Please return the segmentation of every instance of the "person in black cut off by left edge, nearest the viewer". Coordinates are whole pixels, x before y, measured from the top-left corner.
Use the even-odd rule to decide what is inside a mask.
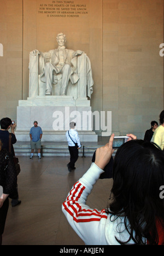
[[[2,245],[2,234],[4,232],[5,220],[7,218],[9,199],[16,187],[17,176],[13,158],[11,158],[6,149],[2,149],[0,140],[0,186],[3,194],[0,194],[0,245]]]

